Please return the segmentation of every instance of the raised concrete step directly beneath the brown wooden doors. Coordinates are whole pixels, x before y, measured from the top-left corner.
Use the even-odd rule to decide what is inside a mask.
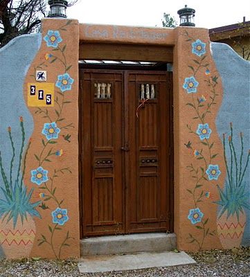
[[[108,235],[80,240],[81,255],[113,255],[139,252],[170,251],[177,248],[175,233]]]

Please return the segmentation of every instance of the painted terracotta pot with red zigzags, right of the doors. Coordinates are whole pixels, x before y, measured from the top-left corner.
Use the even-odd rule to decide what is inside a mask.
[[[226,218],[226,213],[217,218],[217,233],[224,249],[240,247],[246,222],[245,213],[240,213],[239,220],[236,214]]]

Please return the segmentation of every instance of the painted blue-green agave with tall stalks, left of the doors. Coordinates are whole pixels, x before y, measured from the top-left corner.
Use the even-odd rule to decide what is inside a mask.
[[[15,181],[13,181],[13,163],[16,157],[15,145],[12,139],[11,128],[8,127],[8,134],[10,139],[10,144],[12,148],[12,159],[10,161],[10,175],[6,175],[6,170],[3,168],[3,162],[1,159],[0,152],[0,170],[1,177],[3,180],[3,186],[0,184],[0,189],[3,192],[3,196],[5,199],[0,199],[0,219],[13,221],[13,226],[15,228],[17,224],[18,217],[21,217],[21,222],[24,222],[24,219],[27,220],[27,215],[31,217],[40,217],[36,207],[41,202],[31,203],[30,199],[33,194],[33,189],[29,192],[24,185],[24,172],[26,169],[26,157],[28,153],[28,148],[30,147],[30,142],[28,143],[28,148],[26,153],[24,154],[24,141],[25,141],[25,131],[24,131],[24,122],[23,118],[20,117],[20,127],[21,127],[21,150],[17,154],[19,159],[18,169],[17,169],[17,177],[15,177]],[[23,157],[24,154],[24,157]],[[22,164],[22,169],[21,169]]]

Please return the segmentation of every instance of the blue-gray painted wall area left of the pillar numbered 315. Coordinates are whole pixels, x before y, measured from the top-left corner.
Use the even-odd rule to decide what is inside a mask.
[[[24,118],[25,145],[33,132],[33,117],[24,101],[23,84],[30,64],[39,50],[41,40],[41,34],[22,35],[12,39],[0,49],[0,151],[3,168],[6,172],[10,172],[12,157],[8,127],[11,127],[13,143],[17,152],[21,148],[20,116]],[[13,178],[17,175],[18,163],[18,159],[15,159]],[[3,187],[1,175],[0,187]],[[0,199],[2,197],[3,193],[0,191]],[[1,256],[3,256],[3,251],[0,245]]]

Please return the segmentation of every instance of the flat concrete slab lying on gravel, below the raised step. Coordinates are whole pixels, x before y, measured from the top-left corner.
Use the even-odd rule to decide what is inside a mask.
[[[145,252],[127,255],[87,256],[80,260],[78,269],[81,273],[123,271],[150,267],[169,267],[194,264],[195,260],[181,251]]]

